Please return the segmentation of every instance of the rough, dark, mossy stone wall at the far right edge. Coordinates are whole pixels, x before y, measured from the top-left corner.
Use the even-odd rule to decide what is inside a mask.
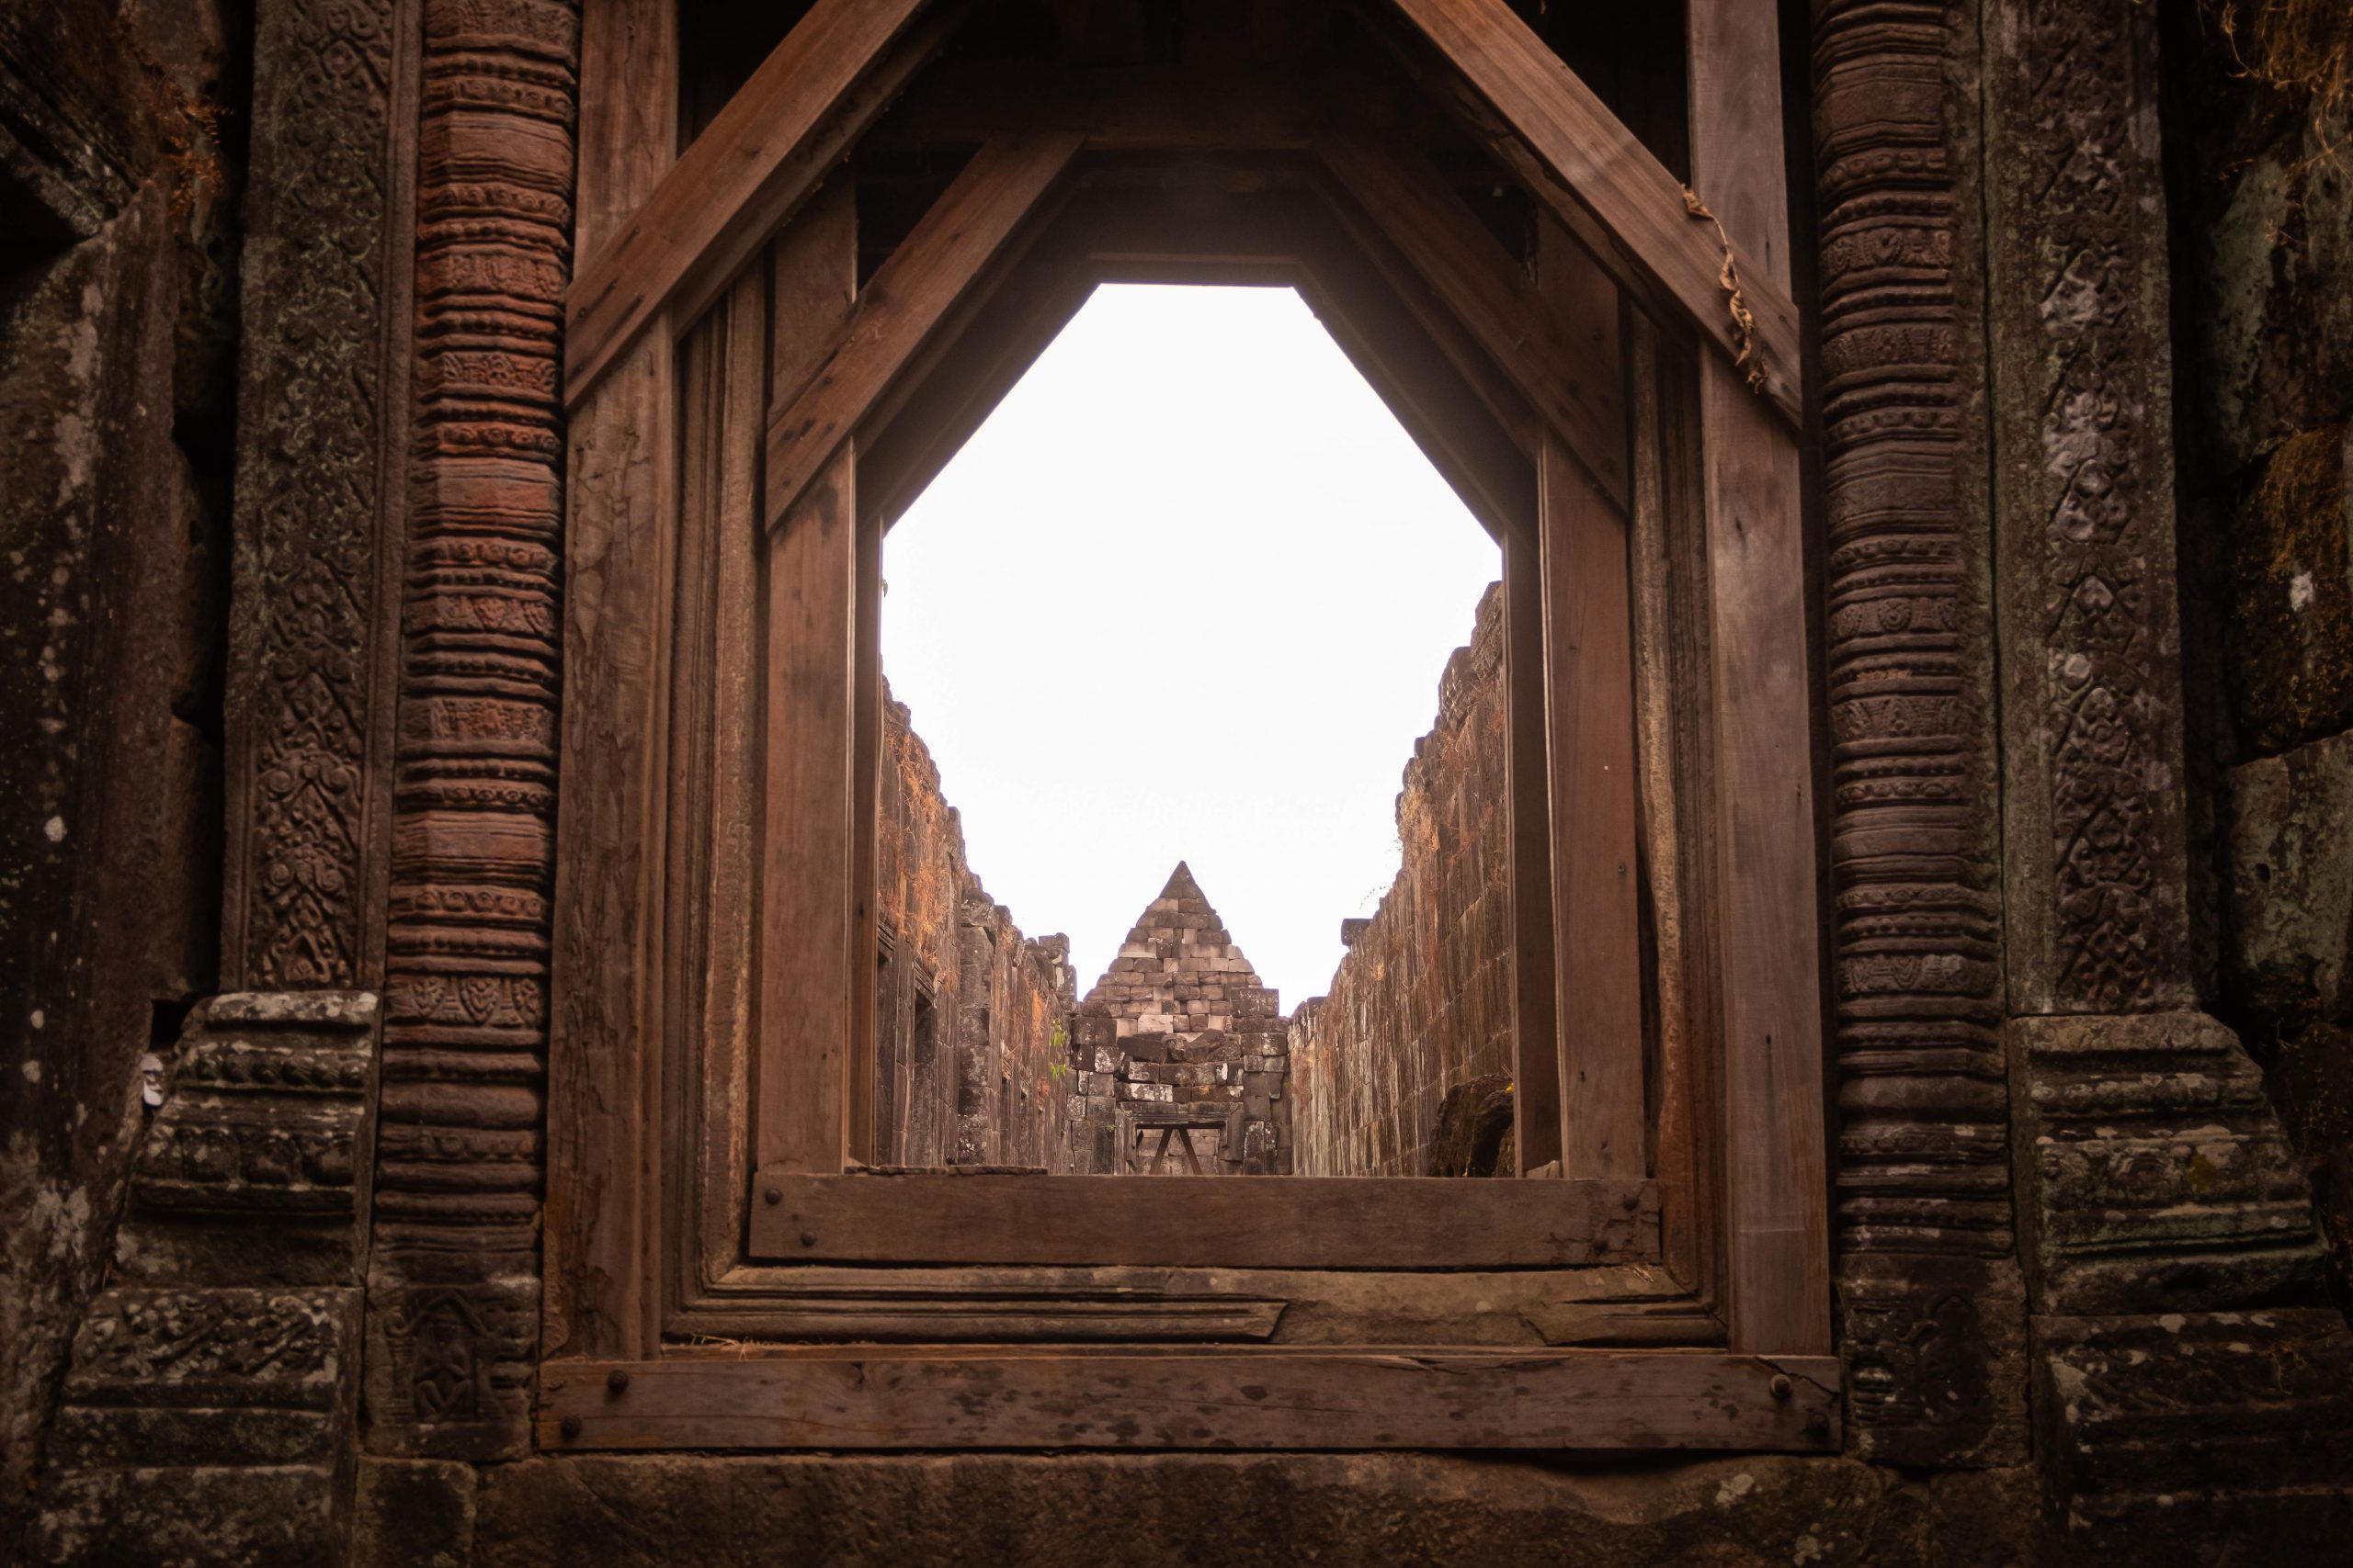
[[[2177,7],[2181,597],[2200,983],[2353,1291],[2353,14]]]

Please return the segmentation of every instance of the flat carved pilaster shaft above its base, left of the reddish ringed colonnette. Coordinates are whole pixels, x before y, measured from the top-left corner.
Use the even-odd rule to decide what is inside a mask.
[[[414,0],[254,14],[224,985],[381,973],[414,21]]]

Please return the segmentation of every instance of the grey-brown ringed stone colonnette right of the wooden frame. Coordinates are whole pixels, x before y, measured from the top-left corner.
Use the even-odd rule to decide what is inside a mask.
[[[1819,0],[1838,1291],[1854,1450],[2024,1455],[1977,5]]]

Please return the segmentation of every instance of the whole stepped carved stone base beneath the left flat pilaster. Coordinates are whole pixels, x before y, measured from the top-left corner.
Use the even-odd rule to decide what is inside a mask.
[[[193,1018],[73,1340],[38,1561],[344,1563],[376,1023],[367,992]]]

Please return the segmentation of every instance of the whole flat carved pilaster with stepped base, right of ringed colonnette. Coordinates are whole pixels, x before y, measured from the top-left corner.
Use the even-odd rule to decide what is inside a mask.
[[[2195,1011],[2155,52],[1986,0],[2012,1161],[2047,1500],[2108,1549],[2292,1540],[2353,1460],[2311,1197]]]

